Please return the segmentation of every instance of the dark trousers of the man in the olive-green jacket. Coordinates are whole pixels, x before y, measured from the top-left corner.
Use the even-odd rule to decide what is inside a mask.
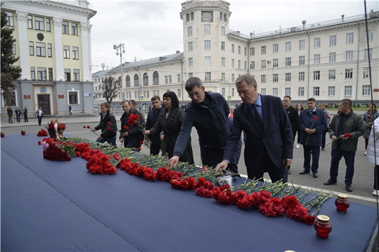
[[[338,165],[340,165],[342,157],[345,158],[346,165],[345,184],[351,186],[354,176],[355,151],[331,151],[331,181],[337,181]]]

